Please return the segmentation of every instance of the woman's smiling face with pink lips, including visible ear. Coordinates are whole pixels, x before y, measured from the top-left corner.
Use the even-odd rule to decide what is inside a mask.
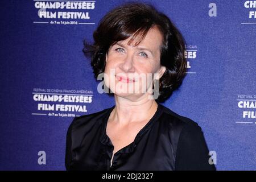
[[[130,39],[110,46],[104,82],[117,96],[136,100],[144,94],[152,95],[154,79],[159,79],[166,68],[160,65],[163,38],[158,28],[151,28],[137,46],[137,39],[128,45]]]

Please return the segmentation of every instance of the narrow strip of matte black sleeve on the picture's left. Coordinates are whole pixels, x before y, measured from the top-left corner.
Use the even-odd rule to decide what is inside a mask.
[[[73,118],[71,125],[68,127],[67,138],[66,138],[66,152],[65,152],[65,167],[67,170],[70,170],[72,162],[72,128],[73,124],[76,121],[76,117]]]

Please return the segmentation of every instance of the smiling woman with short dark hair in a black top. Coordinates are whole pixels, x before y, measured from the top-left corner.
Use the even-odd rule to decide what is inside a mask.
[[[151,5],[126,3],[101,19],[93,38],[83,51],[115,105],[73,119],[66,168],[214,170],[201,127],[159,104],[186,72],[185,43],[170,19]]]

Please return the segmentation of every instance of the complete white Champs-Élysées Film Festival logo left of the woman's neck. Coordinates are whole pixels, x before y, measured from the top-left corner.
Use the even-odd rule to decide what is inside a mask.
[[[79,116],[87,112],[86,104],[92,103],[92,98],[93,92],[90,90],[34,88],[32,99],[36,106],[32,115]]]

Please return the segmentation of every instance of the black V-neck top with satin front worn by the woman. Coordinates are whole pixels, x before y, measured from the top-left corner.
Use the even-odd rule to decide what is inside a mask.
[[[73,119],[67,133],[67,170],[216,170],[208,163],[201,127],[161,104],[134,142],[114,154],[110,167],[114,146],[106,124],[114,107]]]

